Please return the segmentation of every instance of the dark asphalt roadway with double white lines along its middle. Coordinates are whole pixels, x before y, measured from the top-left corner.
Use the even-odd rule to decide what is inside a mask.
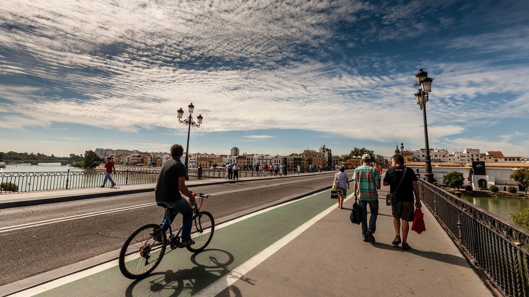
[[[334,173],[194,187],[211,194],[203,210],[217,221],[260,205],[329,186]],[[121,248],[137,227],[158,223],[153,193],[0,210],[0,285]],[[174,225],[181,224],[177,217]]]

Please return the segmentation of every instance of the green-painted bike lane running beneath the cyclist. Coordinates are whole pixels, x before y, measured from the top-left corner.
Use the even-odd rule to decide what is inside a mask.
[[[237,267],[253,259],[252,257],[318,214],[321,216],[325,210],[330,212],[331,206],[335,207],[335,204],[336,200],[329,199],[329,191],[326,190],[294,202],[261,210],[234,222],[221,224],[216,226],[212,241],[206,250],[193,254],[186,249],[171,251],[168,247],[157,269],[142,280],[126,279],[117,267],[117,261],[113,261],[101,267],[94,267],[77,275],[70,275],[30,289],[30,291],[21,292],[21,294],[39,293],[39,296],[194,295],[227,274],[239,279],[242,274],[235,270]],[[178,220],[174,225],[177,225],[177,222]],[[86,276],[78,279],[79,275]],[[244,280],[244,277],[241,279]]]

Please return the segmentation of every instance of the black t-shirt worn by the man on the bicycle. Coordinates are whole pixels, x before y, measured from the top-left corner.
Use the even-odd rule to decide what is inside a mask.
[[[186,167],[179,159],[171,158],[163,162],[158,174],[154,197],[161,201],[177,201],[182,198],[178,190],[178,178],[186,176]]]

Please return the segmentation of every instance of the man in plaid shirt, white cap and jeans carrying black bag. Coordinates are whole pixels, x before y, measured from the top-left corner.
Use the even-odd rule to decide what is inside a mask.
[[[362,240],[364,242],[375,242],[378,217],[378,190],[380,189],[380,175],[378,171],[369,166],[371,156],[362,155],[363,165],[354,169],[354,200],[360,199],[360,209],[362,213]],[[360,194],[357,196],[357,192]],[[367,205],[371,216],[369,226],[367,224]]]

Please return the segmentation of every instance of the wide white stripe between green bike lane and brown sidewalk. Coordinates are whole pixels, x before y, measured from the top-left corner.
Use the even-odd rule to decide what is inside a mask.
[[[353,194],[349,195],[346,200],[349,200]],[[293,241],[294,238],[305,232],[306,229],[314,225],[316,222],[320,221],[323,217],[331,213],[334,209],[336,209],[336,205],[333,204],[331,207],[325,209],[320,214],[316,215],[315,217],[309,219],[306,223],[303,225],[297,227],[294,231],[290,232],[289,234],[285,235],[281,239],[279,239],[277,242],[273,243],[269,247],[265,248],[265,250],[261,251],[257,255],[251,257],[248,261],[242,263],[235,269],[233,269],[231,272],[227,273],[220,279],[216,280],[214,283],[210,284],[206,288],[204,288],[202,291],[195,294],[195,296],[216,296],[220,292],[224,291],[227,287],[238,281],[244,274],[250,272],[252,269],[257,267],[257,265],[261,264],[263,261],[265,261],[268,257],[279,251],[282,247],[287,245],[289,242]]]

